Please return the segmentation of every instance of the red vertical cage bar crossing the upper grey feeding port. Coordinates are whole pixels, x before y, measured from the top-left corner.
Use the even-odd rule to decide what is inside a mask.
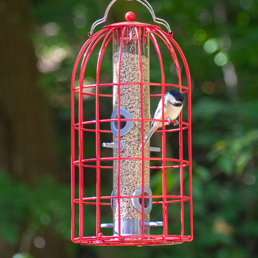
[[[126,30],[126,26],[122,31],[121,39],[120,39],[120,49],[119,49],[119,57],[118,57],[118,75],[117,75],[117,205],[118,205],[118,239],[121,240],[121,214],[120,214],[120,72],[121,72],[121,55],[122,55],[122,47],[124,42],[124,32]]]

